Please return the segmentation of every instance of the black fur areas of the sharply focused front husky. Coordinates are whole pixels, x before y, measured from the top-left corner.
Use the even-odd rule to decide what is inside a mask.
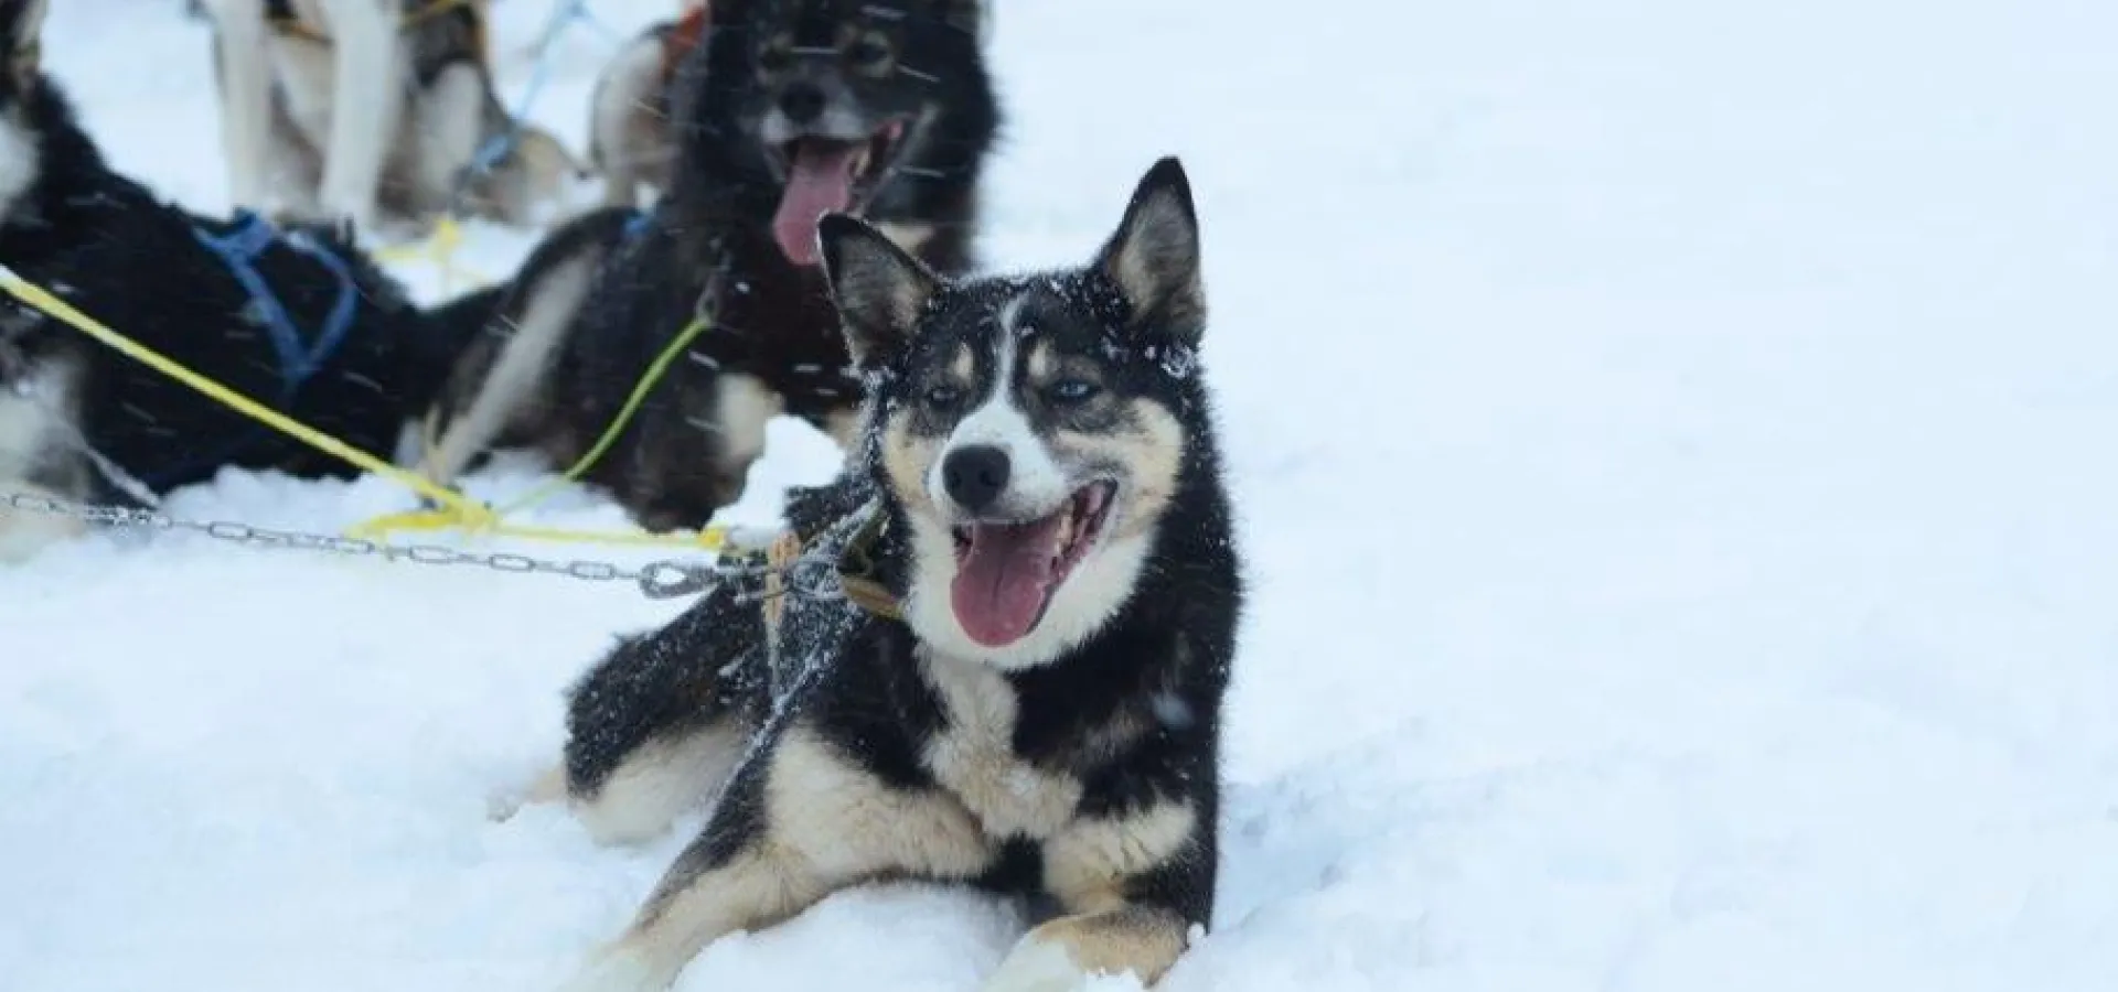
[[[1025,294],[1040,307],[1034,338],[1048,343],[1061,362],[1093,366],[1078,374],[1095,374],[1118,404],[1167,410],[1180,425],[1182,457],[1167,501],[1150,518],[1152,537],[1135,584],[1110,590],[1118,603],[1114,613],[1057,658],[995,670],[1017,711],[1004,757],[1078,780],[1074,823],[1123,821],[1165,804],[1195,810],[1197,821],[1182,844],[1150,869],[1123,876],[1118,897],[1129,907],[1205,926],[1218,874],[1220,706],[1243,584],[1211,404],[1195,360],[1205,311],[1190,209],[1182,171],[1165,161],[1148,173],[1120,235],[1093,264],[972,281],[932,277],[911,258],[890,258],[896,250],[864,224],[828,220],[822,228],[826,267],[834,271],[849,332],[860,324],[856,311],[881,307],[911,286],[902,279],[917,277],[928,298],[902,322],[900,334],[870,338],[862,349],[862,372],[873,389],[862,448],[837,482],[790,493],[788,518],[822,558],[792,577],[813,582],[813,571],[828,571],[847,544],[847,516],[860,520],[858,508],[879,508],[887,522],[870,546],[879,563],[873,577],[904,601],[915,571],[909,541],[915,520],[885,467],[883,425],[917,417],[907,410],[926,404],[951,376],[959,349],[1004,332],[995,313]],[[1171,226],[1190,233],[1169,235]],[[866,283],[875,296],[858,300],[862,290],[849,290],[847,260],[868,247],[879,254],[864,264],[896,267],[898,277],[877,275]],[[1118,258],[1129,258],[1131,271],[1150,279],[1127,286],[1116,275]],[[741,869],[739,859],[760,857],[760,844],[769,846],[775,831],[788,829],[765,808],[767,778],[777,768],[771,755],[792,732],[822,740],[834,761],[864,772],[892,795],[949,789],[928,747],[949,734],[962,713],[951,711],[932,668],[921,662],[936,651],[934,643],[904,620],[839,599],[790,596],[784,609],[779,651],[771,651],[735,586],[714,590],[659,632],[627,639],[572,690],[566,766],[570,791],[582,802],[597,802],[612,772],[648,742],[676,742],[722,719],[735,719],[758,740],[699,840],[642,910],[633,937],[657,926],[680,895],[710,884],[701,880],[705,874]],[[771,694],[773,685],[788,690]],[[786,814],[792,812],[773,816]],[[1046,888],[1044,840],[993,831],[985,840],[983,871],[949,880],[1017,895],[1031,907],[1103,912],[1067,903],[1063,893]],[[911,869],[883,874],[917,876]],[[697,893],[684,897],[697,899]],[[638,943],[657,945],[663,937]]]

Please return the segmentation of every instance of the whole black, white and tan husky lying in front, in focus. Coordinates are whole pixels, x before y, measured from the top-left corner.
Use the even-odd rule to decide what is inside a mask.
[[[1241,609],[1184,171],[1065,273],[953,283],[847,218],[822,243],[875,393],[849,476],[790,518],[885,596],[769,626],[724,586],[574,687],[559,785],[599,838],[720,797],[568,988],[663,988],[877,878],[1055,910],[989,990],[1154,981],[1211,922]],[[860,499],[879,531],[818,522]]]

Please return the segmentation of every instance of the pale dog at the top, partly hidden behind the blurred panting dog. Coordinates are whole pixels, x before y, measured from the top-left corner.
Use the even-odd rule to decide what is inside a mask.
[[[669,85],[676,68],[699,47],[705,2],[688,2],[676,21],[663,21],[631,40],[595,78],[589,97],[589,165],[604,173],[604,203],[631,207],[642,186],[669,188],[676,140],[669,131]]]

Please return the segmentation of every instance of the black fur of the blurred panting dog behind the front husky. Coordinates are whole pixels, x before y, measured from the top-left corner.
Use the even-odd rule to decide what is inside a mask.
[[[932,112],[932,121],[904,144],[902,169],[860,212],[879,222],[932,226],[919,258],[936,271],[962,273],[972,264],[979,176],[1000,127],[976,19],[966,19],[966,8],[976,2],[712,4],[705,42],[671,85],[674,188],[644,231],[606,245],[612,262],[566,332],[546,393],[566,425],[527,431],[551,463],[568,465],[582,455],[701,298],[712,330],[587,476],[640,522],[703,527],[741,495],[752,453],[731,451],[714,429],[724,376],[758,379],[784,402],[784,412],[818,425],[858,408],[860,383],[845,370],[845,338],[822,271],[794,264],[773,239],[786,186],[758,129],[784,85],[760,70],[760,53],[788,36],[828,49],[847,25],[896,40],[896,66],[913,72],[877,80],[847,70],[849,93],[864,114]]]

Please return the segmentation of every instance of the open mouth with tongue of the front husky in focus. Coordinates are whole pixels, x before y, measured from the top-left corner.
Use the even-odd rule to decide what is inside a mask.
[[[985,647],[1029,637],[1053,594],[1103,535],[1116,493],[1116,482],[1097,480],[1044,518],[957,527],[949,601],[964,632]]]

